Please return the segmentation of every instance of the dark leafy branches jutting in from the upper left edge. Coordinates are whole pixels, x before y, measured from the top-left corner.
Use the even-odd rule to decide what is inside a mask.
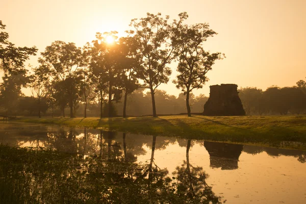
[[[6,25],[0,20],[0,30],[5,30]],[[8,41],[9,34],[0,32],[0,68],[7,72],[23,72],[24,62],[30,55],[36,55],[37,48],[16,47]]]

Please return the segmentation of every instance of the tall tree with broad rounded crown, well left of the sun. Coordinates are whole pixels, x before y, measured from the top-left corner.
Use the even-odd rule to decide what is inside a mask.
[[[65,92],[68,97],[70,107],[70,117],[75,117],[73,108],[77,102],[76,86],[78,83],[77,69],[81,64],[82,50],[75,46],[74,43],[65,43],[63,41],[55,41],[50,46],[45,48],[41,53],[43,58],[39,62],[46,67],[49,67],[54,80],[62,81],[65,87]]]

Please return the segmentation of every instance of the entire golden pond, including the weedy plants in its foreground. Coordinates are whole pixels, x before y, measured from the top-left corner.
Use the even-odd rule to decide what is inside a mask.
[[[306,203],[306,151],[56,125],[1,127],[3,203]]]

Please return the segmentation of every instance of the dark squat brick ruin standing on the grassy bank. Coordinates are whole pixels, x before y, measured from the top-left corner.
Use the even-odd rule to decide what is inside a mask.
[[[245,115],[236,84],[210,86],[209,99],[204,105],[203,115]]]

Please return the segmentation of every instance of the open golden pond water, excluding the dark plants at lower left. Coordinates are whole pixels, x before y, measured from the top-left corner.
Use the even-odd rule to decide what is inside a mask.
[[[169,186],[175,184],[175,192],[180,192],[182,198],[194,199],[193,203],[205,200],[214,203],[306,203],[306,152],[301,150],[29,123],[3,124],[0,141],[10,146],[42,147],[83,159],[93,158],[90,165],[98,166],[95,158],[112,164],[119,162],[124,166],[114,165],[114,173],[108,175],[118,176],[121,168],[124,169],[122,172],[126,169],[133,171],[131,174],[119,172],[121,179],[132,178],[133,189],[135,182],[142,184],[139,181],[146,179],[153,184],[156,181],[154,185],[139,187],[150,188],[148,192],[156,188],[150,195],[156,192],[169,195],[172,188]],[[89,172],[86,165],[73,165],[73,168]],[[167,177],[171,181],[166,180]],[[114,177],[110,181],[114,183]],[[131,181],[124,181],[126,188]],[[159,184],[159,181],[163,183]],[[131,187],[130,191],[133,189]],[[108,197],[107,201],[114,202],[115,198],[111,196],[115,195],[104,195]],[[147,199],[154,203],[153,198]],[[131,203],[135,202],[132,197],[129,199]],[[174,198],[169,197],[165,202],[171,199]],[[176,202],[184,203],[184,199]]]

